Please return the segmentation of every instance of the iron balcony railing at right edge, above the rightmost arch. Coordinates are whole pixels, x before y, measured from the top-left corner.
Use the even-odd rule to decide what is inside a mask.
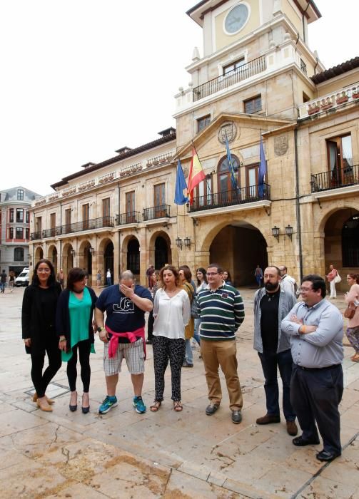
[[[311,192],[318,192],[355,184],[359,184],[359,165],[347,165],[338,170],[311,175],[310,189]]]

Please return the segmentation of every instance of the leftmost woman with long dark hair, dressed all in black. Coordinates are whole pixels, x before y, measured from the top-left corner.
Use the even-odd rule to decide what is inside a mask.
[[[36,263],[30,286],[26,287],[22,302],[22,337],[27,354],[31,354],[31,379],[35,394],[33,401],[41,411],[52,411],[52,401],[45,395],[47,386],[61,367],[61,351],[56,336],[56,305],[61,285],[56,282],[53,264],[48,259]],[[44,368],[45,353],[49,366]]]

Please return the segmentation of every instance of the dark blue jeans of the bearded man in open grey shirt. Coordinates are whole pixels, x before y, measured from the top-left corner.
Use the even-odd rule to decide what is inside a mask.
[[[261,359],[262,369],[264,374],[264,391],[266,391],[267,413],[270,416],[279,416],[279,388],[278,388],[278,373],[279,368],[280,378],[283,384],[283,413],[287,421],[295,420],[295,412],[290,403],[290,377],[292,376],[293,359],[289,350],[281,351],[279,354],[261,354],[258,351],[258,356]]]

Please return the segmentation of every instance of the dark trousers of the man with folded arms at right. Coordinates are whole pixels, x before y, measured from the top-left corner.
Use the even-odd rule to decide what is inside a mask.
[[[341,364],[328,369],[301,369],[293,365],[290,401],[297,414],[304,440],[323,438],[323,448],[341,453],[340,414],[338,406],[343,395]]]

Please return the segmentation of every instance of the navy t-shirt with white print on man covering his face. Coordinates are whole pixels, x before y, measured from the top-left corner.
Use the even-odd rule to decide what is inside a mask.
[[[143,286],[135,286],[138,297],[153,302],[151,293]],[[145,312],[120,291],[118,284],[103,289],[96,302],[96,308],[106,312],[106,326],[116,333],[136,331],[145,325]],[[127,338],[119,338],[120,343],[128,343]]]

